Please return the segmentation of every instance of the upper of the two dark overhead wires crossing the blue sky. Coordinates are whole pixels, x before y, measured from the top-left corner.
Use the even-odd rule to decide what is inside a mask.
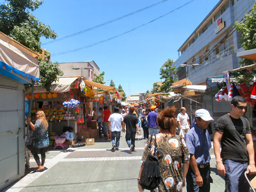
[[[93,27],[84,29],[84,30],[82,30],[82,31],[78,31],[77,33],[70,34],[70,35],[67,35],[67,36],[65,36],[65,37],[61,37],[61,38],[52,40],[52,41],[50,41],[50,42],[42,43],[42,45],[46,45],[46,44],[49,44],[49,43],[58,42],[58,41],[61,41],[61,40],[63,40],[63,39],[66,39],[66,38],[70,38],[70,37],[74,37],[74,36],[76,36],[76,35],[83,34],[83,33],[87,32],[87,31],[91,31],[91,30],[93,30],[93,29],[96,29],[96,28],[99,28],[99,27],[108,25],[108,24],[110,24],[110,23],[113,23],[113,22],[115,22],[115,21],[124,19],[124,18],[126,18],[126,17],[129,17],[129,16],[135,14],[135,13],[139,13],[139,12],[141,12],[141,11],[144,11],[144,10],[146,10],[146,9],[149,9],[149,8],[151,8],[151,7],[153,7],[153,6],[156,6],[156,5],[158,5],[158,4],[164,3],[164,2],[166,2],[166,1],[169,1],[169,0],[163,0],[163,1],[157,2],[157,3],[155,3],[155,4],[146,6],[146,7],[142,8],[142,9],[140,9],[140,10],[133,11],[133,12],[131,12],[131,13],[129,13],[129,14],[125,14],[125,15],[123,15],[123,16],[121,16],[121,17],[118,17],[118,18],[109,20],[109,21],[107,21],[107,22],[101,23],[100,25],[93,26]]]

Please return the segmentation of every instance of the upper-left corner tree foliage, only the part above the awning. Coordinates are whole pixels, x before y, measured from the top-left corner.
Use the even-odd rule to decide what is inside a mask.
[[[38,9],[42,3],[42,0],[6,0],[0,5],[0,31],[30,50],[41,53],[40,38],[57,37],[50,26],[39,22],[29,12]]]

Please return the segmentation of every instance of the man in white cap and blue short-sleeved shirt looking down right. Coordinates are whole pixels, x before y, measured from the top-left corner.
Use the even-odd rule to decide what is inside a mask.
[[[195,125],[185,134],[190,153],[189,169],[186,177],[187,191],[210,191],[210,148],[211,139],[207,126],[213,118],[205,109],[196,110]]]

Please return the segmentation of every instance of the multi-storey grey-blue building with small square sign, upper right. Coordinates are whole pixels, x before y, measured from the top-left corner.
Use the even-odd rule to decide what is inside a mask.
[[[205,84],[207,77],[239,67],[236,53],[243,51],[243,47],[234,23],[241,21],[254,3],[254,0],[218,2],[179,48],[179,58],[174,62],[179,79],[188,77],[194,85]]]

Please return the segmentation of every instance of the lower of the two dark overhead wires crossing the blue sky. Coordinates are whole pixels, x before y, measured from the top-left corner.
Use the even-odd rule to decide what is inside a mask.
[[[108,38],[108,39],[105,39],[105,40],[102,40],[102,41],[99,41],[99,42],[96,42],[96,43],[93,43],[93,44],[90,44],[90,45],[85,45],[85,46],[82,46],[82,47],[78,47],[78,48],[73,49],[73,50],[69,50],[69,51],[65,51],[65,52],[60,52],[60,53],[52,54],[52,56],[67,54],[67,53],[71,53],[71,52],[76,52],[76,51],[79,51],[79,50],[82,50],[82,49],[86,49],[86,48],[92,47],[92,46],[94,46],[94,45],[98,45],[98,44],[100,44],[100,43],[104,43],[104,42],[110,41],[110,40],[112,40],[112,39],[115,39],[115,38],[120,37],[120,36],[122,36],[122,35],[125,35],[125,34],[127,34],[127,33],[130,33],[130,32],[132,32],[132,31],[134,31],[134,30],[136,30],[136,29],[138,29],[138,28],[141,28],[141,27],[143,27],[143,26],[146,26],[146,25],[148,25],[148,24],[151,23],[151,22],[154,22],[154,21],[156,21],[156,20],[158,20],[158,19],[161,19],[162,17],[164,17],[164,16],[166,16],[166,15],[168,15],[168,14],[170,14],[170,13],[176,11],[176,10],[181,9],[183,6],[186,6],[187,4],[189,4],[189,3],[193,2],[193,1],[195,1],[195,0],[191,0],[191,1],[189,1],[189,2],[187,2],[187,3],[185,3],[185,4],[183,4],[183,5],[181,5],[181,6],[179,6],[179,7],[177,7],[176,9],[174,9],[174,10],[172,10],[172,11],[170,11],[170,12],[165,13],[164,15],[161,15],[161,16],[158,17],[158,18],[155,18],[155,19],[153,19],[153,20],[151,20],[151,21],[149,21],[149,22],[146,22],[146,23],[144,23],[144,24],[142,24],[142,25],[140,25],[140,26],[137,26],[137,27],[135,27],[135,28],[133,28],[133,29],[130,29],[130,30],[128,30],[128,31],[125,31],[125,32],[122,33],[122,34],[119,34],[119,35],[110,37],[110,38]]]

